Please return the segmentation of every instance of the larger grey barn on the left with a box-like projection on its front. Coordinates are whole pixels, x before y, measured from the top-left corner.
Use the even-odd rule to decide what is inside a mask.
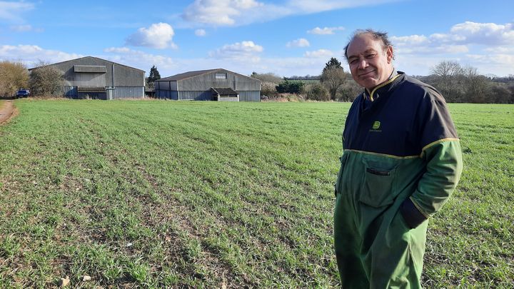
[[[49,64],[63,73],[69,98],[143,98],[144,71],[92,56]],[[35,67],[34,69],[37,69]],[[29,69],[29,71],[34,70]]]

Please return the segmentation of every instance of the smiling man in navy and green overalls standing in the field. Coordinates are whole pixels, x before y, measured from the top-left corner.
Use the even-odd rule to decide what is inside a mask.
[[[336,183],[341,283],[420,288],[428,218],[462,172],[455,126],[435,88],[394,69],[387,34],[358,30],[345,50],[364,91],[346,118]]]

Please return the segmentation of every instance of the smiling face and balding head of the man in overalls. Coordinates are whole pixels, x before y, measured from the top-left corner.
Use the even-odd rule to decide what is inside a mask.
[[[384,50],[382,41],[374,40],[371,34],[356,36],[347,54],[353,80],[370,91],[387,81],[393,72],[393,48]]]

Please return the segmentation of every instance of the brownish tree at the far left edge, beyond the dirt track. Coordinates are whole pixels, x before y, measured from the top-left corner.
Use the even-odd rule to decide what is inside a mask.
[[[14,96],[19,88],[29,86],[29,71],[21,62],[0,62],[0,96]]]

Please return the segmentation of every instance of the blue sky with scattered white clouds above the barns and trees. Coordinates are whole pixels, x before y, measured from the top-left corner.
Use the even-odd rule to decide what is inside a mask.
[[[0,1],[0,61],[96,56],[162,77],[224,68],[318,75],[355,29],[387,31],[395,67],[443,60],[514,74],[512,0]]]

